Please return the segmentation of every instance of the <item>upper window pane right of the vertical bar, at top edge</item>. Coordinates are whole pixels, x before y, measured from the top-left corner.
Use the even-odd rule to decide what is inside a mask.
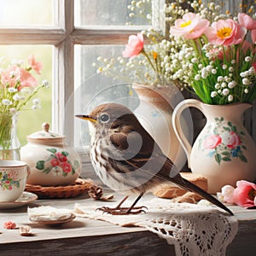
[[[75,26],[148,25],[151,0],[75,0]],[[129,7],[129,9],[128,9]]]

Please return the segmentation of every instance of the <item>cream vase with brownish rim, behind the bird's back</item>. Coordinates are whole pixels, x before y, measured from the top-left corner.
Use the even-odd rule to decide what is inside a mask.
[[[186,163],[186,155],[172,128],[173,101],[177,98],[174,86],[153,87],[150,85],[133,84],[140,104],[134,111],[144,129],[154,137],[162,151],[180,170]],[[181,117],[180,119],[183,119]],[[183,120],[183,129],[188,125]]]

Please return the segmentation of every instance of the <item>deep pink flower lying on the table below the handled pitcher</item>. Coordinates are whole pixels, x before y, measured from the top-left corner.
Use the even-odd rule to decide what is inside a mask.
[[[233,199],[236,205],[240,207],[254,207],[256,196],[256,184],[249,183],[245,180],[236,183]]]

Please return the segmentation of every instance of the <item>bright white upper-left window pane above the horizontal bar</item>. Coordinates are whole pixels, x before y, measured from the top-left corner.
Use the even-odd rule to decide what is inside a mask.
[[[52,0],[0,0],[0,26],[53,26]]]

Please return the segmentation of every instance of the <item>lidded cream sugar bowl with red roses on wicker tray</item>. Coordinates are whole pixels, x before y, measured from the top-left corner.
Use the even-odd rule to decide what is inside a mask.
[[[27,136],[27,144],[20,150],[20,158],[30,168],[26,183],[41,186],[69,185],[80,175],[79,154],[65,144],[65,136],[43,130]]]

